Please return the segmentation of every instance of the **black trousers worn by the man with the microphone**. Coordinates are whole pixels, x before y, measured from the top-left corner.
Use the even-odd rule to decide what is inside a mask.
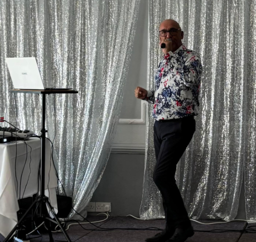
[[[167,230],[170,227],[190,226],[186,208],[176,185],[175,172],[178,161],[193,137],[195,126],[193,116],[154,123],[156,164],[153,180],[162,195]]]

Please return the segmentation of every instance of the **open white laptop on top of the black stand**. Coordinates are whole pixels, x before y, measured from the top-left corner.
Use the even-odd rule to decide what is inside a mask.
[[[6,63],[15,89],[72,89],[44,87],[35,57],[6,58]]]

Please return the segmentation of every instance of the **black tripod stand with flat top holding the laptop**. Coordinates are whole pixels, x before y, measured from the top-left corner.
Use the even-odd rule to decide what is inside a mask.
[[[53,207],[51,206],[49,199],[47,196],[44,194],[44,189],[45,189],[45,138],[46,138],[46,133],[47,130],[45,129],[45,95],[46,94],[53,94],[53,93],[78,93],[76,90],[61,90],[61,89],[51,89],[51,90],[11,90],[10,92],[21,92],[21,93],[37,93],[37,94],[42,94],[42,130],[41,130],[41,186],[40,186],[40,195],[37,196],[36,200],[31,204],[31,206],[27,209],[27,211],[24,213],[22,218],[18,221],[18,223],[15,225],[15,227],[12,229],[12,231],[8,234],[8,236],[5,238],[3,242],[9,241],[11,237],[14,236],[15,231],[17,230],[17,227],[24,221],[26,215],[29,213],[30,210],[32,210],[33,206],[36,204],[36,207],[39,209],[39,217],[40,219],[45,223],[49,237],[50,237],[50,242],[53,242],[53,237],[51,234],[51,229],[50,229],[50,221],[52,221],[48,217],[48,211],[52,213],[53,217],[56,219],[57,224],[59,225],[62,233],[64,234],[66,240],[68,242],[71,242],[69,236],[67,235],[66,231],[61,225],[61,222],[59,218],[57,217]],[[47,207],[46,207],[47,206]]]

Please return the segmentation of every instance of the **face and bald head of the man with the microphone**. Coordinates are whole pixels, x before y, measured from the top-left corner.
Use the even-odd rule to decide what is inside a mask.
[[[181,31],[179,24],[176,21],[173,20],[165,20],[160,24],[159,31],[162,30],[177,30],[177,32],[174,33],[174,35],[170,34],[170,32],[167,32],[166,37],[160,36],[160,42],[163,42],[165,39],[171,39],[172,40],[172,49],[171,51],[177,50],[181,44],[183,39],[183,31]]]

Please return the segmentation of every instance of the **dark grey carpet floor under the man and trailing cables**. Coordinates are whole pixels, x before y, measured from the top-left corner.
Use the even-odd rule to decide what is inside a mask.
[[[103,220],[102,216],[89,216],[87,219],[91,222]],[[200,221],[203,223],[210,223],[215,221]],[[101,228],[134,228],[142,230],[111,230],[111,231],[97,231],[98,228],[91,224],[84,224],[83,228],[79,225],[70,226],[67,231],[72,242],[143,242],[145,238],[154,236],[157,231],[145,230],[149,227],[164,228],[164,220],[136,220],[132,217],[110,217],[104,222],[95,224]],[[249,226],[256,226],[256,224],[247,224],[244,221],[233,221],[226,224],[215,225],[201,225],[192,221],[195,235],[187,240],[187,242],[256,242],[256,234],[245,234],[240,232],[225,232],[225,233],[210,233],[197,232],[209,230],[244,230]],[[249,228],[250,229],[250,228]],[[251,228],[256,230],[256,227]],[[53,233],[54,240],[66,241],[62,233]],[[0,242],[3,237],[0,235]],[[42,238],[31,239],[31,242],[49,242],[47,234],[43,234]]]

